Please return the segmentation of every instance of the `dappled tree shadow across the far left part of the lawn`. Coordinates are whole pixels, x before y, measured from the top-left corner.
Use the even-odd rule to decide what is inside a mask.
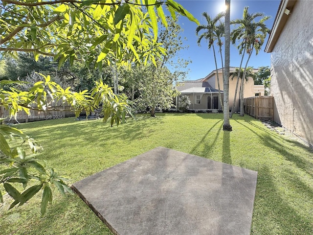
[[[66,140],[75,140],[77,144],[81,146],[87,143],[92,143],[93,147],[110,147],[113,139],[119,139],[123,141],[128,140],[141,140],[144,138],[149,138],[153,135],[156,130],[156,125],[163,122],[162,118],[149,118],[140,117],[137,120],[130,120],[125,124],[120,126],[110,127],[109,123],[103,123],[102,121],[82,121],[82,123],[66,123],[63,126],[56,126],[51,123],[48,126],[43,127],[42,130],[31,131],[27,134],[35,134],[34,138],[38,141],[41,137],[45,138],[48,133],[60,133],[60,136],[53,140],[55,142],[62,141],[64,147],[70,146],[72,143]],[[28,128],[28,126],[23,126],[23,128]]]

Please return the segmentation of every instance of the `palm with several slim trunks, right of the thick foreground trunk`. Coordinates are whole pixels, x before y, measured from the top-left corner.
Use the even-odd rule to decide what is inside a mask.
[[[262,17],[262,19],[258,22],[255,22],[255,18]],[[239,54],[243,54],[242,61],[245,53],[248,54],[248,58],[245,65],[244,75],[246,77],[246,69],[249,62],[249,59],[252,55],[253,49],[256,50],[256,54],[258,54],[261,46],[264,43],[265,37],[269,33],[269,29],[264,23],[269,19],[268,16],[264,16],[263,13],[248,13],[248,7],[245,7],[243,19],[237,19],[230,22],[230,24],[238,25],[231,32],[231,40],[232,44],[236,44],[236,40],[240,40],[240,44],[237,47],[239,49]],[[240,64],[239,73],[241,72],[242,62]],[[239,82],[240,75],[238,76],[237,83]],[[244,85],[245,79],[241,79],[241,92],[240,92],[240,116],[244,116]],[[238,89],[238,84],[236,85],[236,89]],[[236,94],[236,92],[235,92]],[[234,103],[236,100],[236,96],[234,99]],[[233,105],[234,107],[234,105]],[[233,111],[233,110],[232,110]]]

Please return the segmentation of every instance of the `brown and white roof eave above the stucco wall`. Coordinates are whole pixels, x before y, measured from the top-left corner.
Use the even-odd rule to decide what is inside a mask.
[[[287,20],[289,19],[289,13],[292,11],[294,4],[297,0],[281,0],[279,9],[276,14],[276,18],[274,20],[272,30],[268,37],[268,42],[265,47],[265,52],[272,52],[273,48],[275,47],[275,44],[279,38],[279,35],[281,31],[283,30]],[[285,10],[287,9],[288,15],[285,13]]]

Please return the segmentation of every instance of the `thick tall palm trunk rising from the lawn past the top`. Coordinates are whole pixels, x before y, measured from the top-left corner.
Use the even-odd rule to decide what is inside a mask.
[[[230,60],[230,0],[225,0],[225,74],[224,74],[224,131],[231,131],[229,122],[229,60]]]

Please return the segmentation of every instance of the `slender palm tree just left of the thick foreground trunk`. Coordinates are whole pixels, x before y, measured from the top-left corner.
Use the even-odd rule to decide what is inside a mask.
[[[201,40],[204,38],[208,41],[208,48],[213,48],[213,54],[214,54],[214,61],[215,61],[215,68],[216,68],[216,77],[217,77],[217,84],[219,89],[219,99],[221,102],[221,107],[223,109],[223,102],[222,102],[222,95],[221,95],[221,89],[220,89],[220,79],[219,79],[219,73],[218,73],[218,67],[217,67],[217,61],[216,61],[216,54],[215,54],[215,48],[214,48],[214,41],[218,40],[221,41],[221,36],[223,31],[221,31],[221,27],[218,27],[217,23],[224,17],[224,12],[221,12],[217,14],[216,17],[211,19],[211,17],[206,13],[203,12],[202,16],[206,19],[207,24],[201,24],[196,28],[196,35],[199,36],[199,32],[201,30],[204,30],[204,32],[199,36],[198,38],[198,45],[201,46]],[[218,32],[217,32],[218,30]],[[217,34],[218,33],[218,34]],[[221,50],[222,45],[220,46]],[[222,60],[223,61],[223,60]],[[222,62],[223,63],[223,62]],[[223,68],[223,67],[222,67]]]

